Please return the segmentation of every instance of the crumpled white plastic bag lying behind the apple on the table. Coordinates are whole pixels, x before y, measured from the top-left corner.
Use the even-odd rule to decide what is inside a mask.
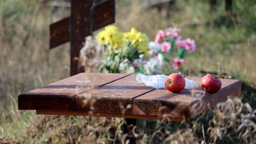
[[[146,86],[150,86],[156,89],[166,89],[165,88],[165,80],[168,76],[166,75],[150,75],[146,76],[144,74],[137,74],[136,80],[139,84],[145,84]],[[197,87],[198,84],[193,81],[185,78],[186,85],[184,89],[193,89],[194,87]]]

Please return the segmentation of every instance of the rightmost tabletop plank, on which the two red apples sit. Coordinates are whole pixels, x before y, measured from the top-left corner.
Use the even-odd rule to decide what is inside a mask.
[[[203,92],[200,87],[202,78],[186,77],[197,82],[197,89],[184,89],[172,93],[166,89],[158,89],[133,100],[133,114],[148,116],[179,117],[189,119],[216,106],[228,97],[241,94],[241,81],[221,79],[222,89],[216,94]]]

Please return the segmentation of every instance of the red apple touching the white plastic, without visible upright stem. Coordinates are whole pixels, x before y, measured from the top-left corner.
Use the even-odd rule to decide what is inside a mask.
[[[169,75],[165,80],[165,88],[171,92],[180,92],[186,85],[185,78],[178,73]]]

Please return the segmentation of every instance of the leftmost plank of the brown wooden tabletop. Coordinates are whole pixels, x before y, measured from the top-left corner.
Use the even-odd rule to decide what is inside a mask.
[[[129,74],[81,73],[18,96],[19,110],[74,111],[75,95],[106,85]]]

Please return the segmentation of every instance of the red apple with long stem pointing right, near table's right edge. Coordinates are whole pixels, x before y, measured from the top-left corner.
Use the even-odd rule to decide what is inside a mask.
[[[222,86],[222,83],[219,78],[224,79],[223,76],[217,77],[212,74],[205,75],[201,80],[201,89],[204,92],[208,92],[210,94],[217,93],[221,89],[221,86]]]

